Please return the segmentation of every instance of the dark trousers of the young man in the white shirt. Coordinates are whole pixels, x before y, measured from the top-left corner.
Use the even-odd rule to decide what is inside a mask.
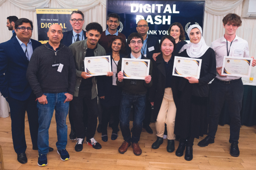
[[[216,79],[216,78],[215,78]],[[208,135],[214,139],[224,101],[228,103],[230,115],[230,143],[238,143],[241,127],[240,111],[244,87],[241,78],[234,83],[224,84],[215,80],[210,85],[210,108]]]

